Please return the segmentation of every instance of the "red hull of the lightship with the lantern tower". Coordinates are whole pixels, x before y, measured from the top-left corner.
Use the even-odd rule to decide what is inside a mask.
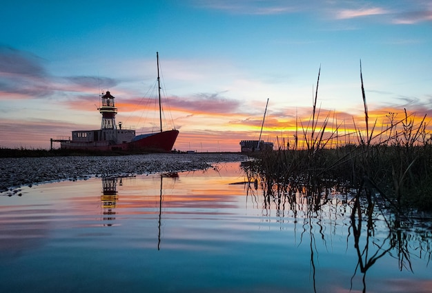
[[[61,148],[72,150],[139,150],[148,152],[170,152],[173,149],[177,135],[179,135],[178,130],[168,130],[150,134],[147,137],[138,139],[137,141],[115,145],[108,145],[108,142],[79,143],[74,141],[63,141],[61,143]]]

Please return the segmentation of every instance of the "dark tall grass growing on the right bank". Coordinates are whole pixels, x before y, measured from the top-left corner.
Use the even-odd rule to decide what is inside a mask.
[[[353,133],[342,131],[342,124],[328,130],[331,115],[320,117],[316,90],[308,123],[300,121],[293,141],[278,139],[277,150],[255,154],[250,176],[261,177],[268,193],[274,185],[283,192],[293,184],[317,190],[348,182],[364,187],[369,200],[379,194],[395,210],[432,210],[432,139],[426,115],[418,120],[404,109],[403,119],[397,119],[397,113],[389,113],[389,123],[377,130],[377,121],[369,121],[361,65],[360,79],[364,121],[354,121]]]

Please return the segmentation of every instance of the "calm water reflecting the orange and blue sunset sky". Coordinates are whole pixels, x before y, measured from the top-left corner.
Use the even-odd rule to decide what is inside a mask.
[[[346,196],[314,212],[217,169],[2,194],[0,292],[432,292],[430,223],[355,236]]]

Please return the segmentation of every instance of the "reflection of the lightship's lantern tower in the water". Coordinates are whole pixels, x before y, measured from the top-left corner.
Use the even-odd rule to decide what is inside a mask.
[[[118,179],[115,177],[102,178],[103,194],[101,195],[101,203],[102,208],[104,208],[104,221],[115,220],[115,212],[113,209],[117,205],[117,200],[119,199],[119,196],[117,196],[117,180]],[[119,179],[119,181],[121,185],[121,179]],[[110,226],[112,223],[106,225]]]

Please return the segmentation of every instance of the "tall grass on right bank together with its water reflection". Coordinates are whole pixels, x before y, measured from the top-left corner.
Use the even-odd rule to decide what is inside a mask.
[[[310,236],[314,292],[318,235],[313,233],[313,225],[318,226],[320,239],[325,241],[321,219],[328,210],[337,211],[335,217],[351,214],[346,243],[353,238],[358,259],[351,290],[360,271],[366,292],[366,273],[386,254],[398,260],[400,270],[413,271],[412,256],[428,263],[432,259],[431,224],[426,220],[426,228],[413,233],[411,229],[417,225],[409,216],[411,208],[432,210],[432,139],[426,132],[426,116],[415,123],[415,117],[406,110],[400,120],[397,114],[389,113],[389,125],[377,130],[377,121],[369,121],[361,66],[360,79],[363,130],[357,122],[351,134],[344,131],[340,135],[340,125],[327,131],[330,114],[320,119],[316,90],[310,121],[300,123],[293,143],[282,139],[277,150],[259,152],[255,163],[244,166],[249,182],[261,179],[266,210],[275,204],[278,213],[291,212],[295,223],[303,215],[302,236]],[[342,191],[342,198],[330,194],[339,188],[352,188],[353,194],[347,190]],[[313,219],[317,219],[314,224]],[[384,221],[387,229],[377,228],[375,220]]]

